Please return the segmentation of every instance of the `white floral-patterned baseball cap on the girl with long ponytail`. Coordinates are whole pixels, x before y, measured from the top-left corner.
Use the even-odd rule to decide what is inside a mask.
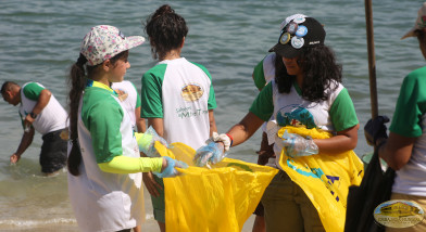
[[[80,53],[87,59],[87,65],[95,66],[143,42],[141,36],[125,37],[114,26],[99,25],[92,27],[83,39]]]

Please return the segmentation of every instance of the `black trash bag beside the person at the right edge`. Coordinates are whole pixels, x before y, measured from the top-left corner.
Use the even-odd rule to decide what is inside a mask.
[[[375,149],[361,184],[349,188],[346,232],[385,231],[384,225],[375,222],[374,209],[390,199],[393,179],[394,170],[383,170]]]

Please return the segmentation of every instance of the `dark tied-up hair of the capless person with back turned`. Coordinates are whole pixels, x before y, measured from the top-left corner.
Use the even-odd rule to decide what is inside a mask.
[[[164,4],[147,18],[145,31],[149,37],[152,56],[163,60],[168,51],[180,47],[188,27],[184,17]]]

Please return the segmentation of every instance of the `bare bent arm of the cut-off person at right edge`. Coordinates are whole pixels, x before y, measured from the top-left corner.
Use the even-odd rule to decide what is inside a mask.
[[[385,142],[384,145],[379,146],[378,154],[389,167],[399,170],[409,163],[416,139],[390,132],[389,139],[377,140],[376,145]]]

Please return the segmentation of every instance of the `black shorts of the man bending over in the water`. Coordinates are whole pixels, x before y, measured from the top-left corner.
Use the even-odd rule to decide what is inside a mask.
[[[52,173],[63,168],[66,164],[67,141],[61,138],[61,133],[67,129],[52,131],[42,136],[40,153],[41,171]]]

